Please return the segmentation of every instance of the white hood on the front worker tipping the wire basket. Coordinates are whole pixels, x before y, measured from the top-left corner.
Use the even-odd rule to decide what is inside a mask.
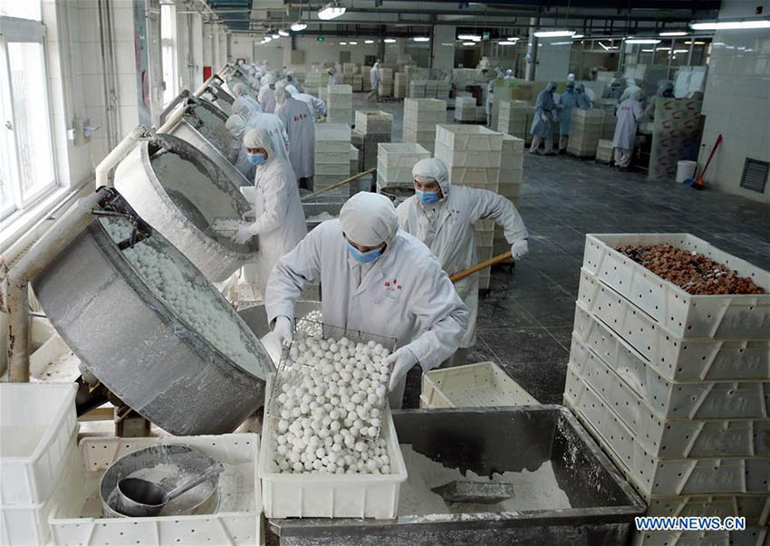
[[[361,191],[342,206],[340,226],[353,243],[377,246],[390,243],[399,230],[399,217],[388,197]]]

